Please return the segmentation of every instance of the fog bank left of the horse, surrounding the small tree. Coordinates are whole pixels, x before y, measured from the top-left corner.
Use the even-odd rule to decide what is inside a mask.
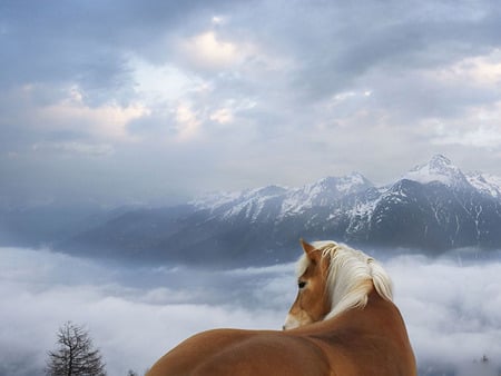
[[[285,307],[276,307],[283,297],[269,299],[267,290],[276,290],[277,278],[282,287],[279,276],[289,267],[218,276],[178,268],[130,269],[42,250],[0,253],[0,297],[9,301],[0,309],[1,375],[40,373],[58,327],[67,320],[88,328],[109,374],[125,375],[128,369],[144,372],[195,333],[279,328],[285,317]],[[235,291],[232,281],[243,286]],[[257,308],[250,309],[250,303]]]

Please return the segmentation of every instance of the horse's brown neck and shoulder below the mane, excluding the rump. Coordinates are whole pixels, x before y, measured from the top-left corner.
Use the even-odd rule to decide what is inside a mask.
[[[377,294],[364,309],[296,330],[324,349],[336,375],[415,376],[416,365],[402,316]]]

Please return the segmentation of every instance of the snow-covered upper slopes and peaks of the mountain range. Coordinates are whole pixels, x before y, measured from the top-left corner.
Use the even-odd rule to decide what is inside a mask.
[[[446,157],[436,155],[429,162],[414,167],[400,180],[384,187],[374,187],[364,176],[353,172],[344,177],[322,178],[299,188],[267,186],[237,192],[210,194],[190,204],[198,209],[208,209],[212,216],[225,220],[240,218],[250,221],[282,221],[312,208],[328,208],[331,212],[325,216],[326,220],[337,220],[344,216],[351,224],[357,224],[370,221],[376,207],[381,211],[381,202],[407,202],[406,189],[403,189],[407,185],[403,184],[404,180],[421,185],[440,182],[455,191],[477,189],[495,199],[501,198],[501,177],[464,175]],[[357,226],[358,224],[353,228]]]

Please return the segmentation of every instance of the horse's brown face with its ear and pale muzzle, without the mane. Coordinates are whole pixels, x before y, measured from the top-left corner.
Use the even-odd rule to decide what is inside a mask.
[[[304,255],[297,264],[297,297],[288,311],[284,330],[323,320],[331,311],[327,294],[330,258],[303,239]]]

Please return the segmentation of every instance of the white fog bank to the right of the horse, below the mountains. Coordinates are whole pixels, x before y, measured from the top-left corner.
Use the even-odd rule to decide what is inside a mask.
[[[501,264],[397,257],[387,263],[396,304],[421,364],[461,368],[487,355],[501,366]]]

